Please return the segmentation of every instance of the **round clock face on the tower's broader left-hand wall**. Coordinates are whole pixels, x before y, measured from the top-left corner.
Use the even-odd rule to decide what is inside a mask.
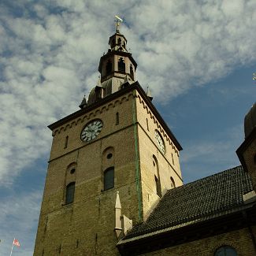
[[[102,126],[103,124],[100,120],[91,121],[83,128],[83,131],[81,132],[81,139],[84,142],[89,142],[92,139],[95,139],[102,131]]]

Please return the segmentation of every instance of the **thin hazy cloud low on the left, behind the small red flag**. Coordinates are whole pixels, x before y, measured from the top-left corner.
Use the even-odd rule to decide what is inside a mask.
[[[13,237],[20,242],[20,248],[13,249],[15,254],[20,256],[33,254],[35,237],[31,237],[31,232],[35,232],[38,225],[41,200],[42,194],[39,191],[28,194],[22,192],[1,200],[1,254],[10,251]]]

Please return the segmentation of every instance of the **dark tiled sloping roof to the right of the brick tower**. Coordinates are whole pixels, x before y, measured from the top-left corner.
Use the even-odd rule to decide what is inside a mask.
[[[242,166],[176,187],[167,191],[147,221],[132,228],[123,240],[240,209],[243,195],[252,190],[250,176]]]

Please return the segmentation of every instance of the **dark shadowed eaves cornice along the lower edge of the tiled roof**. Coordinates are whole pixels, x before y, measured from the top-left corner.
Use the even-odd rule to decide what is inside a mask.
[[[244,213],[247,213],[248,219],[245,219]],[[247,228],[248,224],[255,225],[255,213],[254,205],[244,206],[232,213],[219,215],[213,219],[206,218],[205,220],[180,224],[176,227],[164,228],[158,232],[134,239],[121,239],[117,243],[117,248],[121,255],[147,254],[154,250]]]

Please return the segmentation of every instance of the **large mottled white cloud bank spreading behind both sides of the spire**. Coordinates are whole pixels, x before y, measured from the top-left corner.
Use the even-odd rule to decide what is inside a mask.
[[[2,184],[11,183],[7,170],[16,176],[42,156],[50,144],[46,124],[78,109],[97,83],[113,11],[124,14],[121,31],[139,63],[139,83],[165,101],[256,56],[254,1],[28,3],[1,11]]]

